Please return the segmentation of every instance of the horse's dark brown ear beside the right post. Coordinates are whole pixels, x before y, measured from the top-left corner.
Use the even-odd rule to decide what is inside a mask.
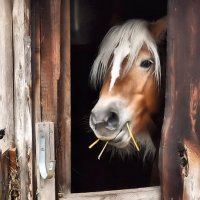
[[[157,43],[165,40],[167,32],[167,17],[163,17],[156,22],[150,23],[149,30]]]

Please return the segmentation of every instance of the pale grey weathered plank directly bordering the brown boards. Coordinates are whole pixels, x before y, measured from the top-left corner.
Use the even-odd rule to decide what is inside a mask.
[[[29,0],[13,1],[15,144],[20,168],[20,198],[32,199],[32,102]]]

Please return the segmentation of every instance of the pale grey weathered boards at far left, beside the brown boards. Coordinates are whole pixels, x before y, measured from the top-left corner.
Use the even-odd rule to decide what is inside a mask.
[[[0,142],[3,153],[1,164],[4,162],[1,169],[3,167],[6,172],[0,187],[5,184],[9,186],[3,187],[3,196],[0,196],[2,199],[32,199],[29,0],[0,1],[0,52],[0,129],[5,128],[5,137]],[[7,171],[5,158],[9,164]],[[9,180],[5,180],[5,177]]]

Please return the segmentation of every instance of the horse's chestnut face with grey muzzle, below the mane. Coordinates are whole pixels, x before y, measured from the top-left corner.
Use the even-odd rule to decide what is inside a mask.
[[[152,51],[143,45],[127,72],[127,56],[120,63],[117,77],[113,78],[117,71],[114,66],[107,70],[99,100],[90,116],[90,126],[99,139],[124,148],[131,139],[127,123],[135,135],[149,129],[160,102],[155,60]]]

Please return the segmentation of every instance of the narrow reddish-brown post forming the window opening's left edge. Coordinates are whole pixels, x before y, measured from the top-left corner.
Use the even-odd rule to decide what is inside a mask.
[[[57,191],[71,189],[70,1],[61,1],[61,70],[58,84]]]

